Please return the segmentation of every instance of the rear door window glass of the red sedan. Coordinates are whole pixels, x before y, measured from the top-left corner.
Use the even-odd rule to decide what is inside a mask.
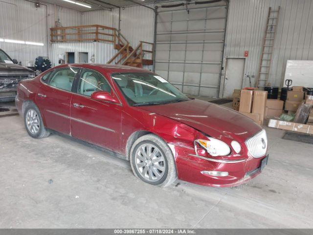
[[[64,68],[55,70],[49,79],[49,85],[70,92],[74,78],[79,68]]]

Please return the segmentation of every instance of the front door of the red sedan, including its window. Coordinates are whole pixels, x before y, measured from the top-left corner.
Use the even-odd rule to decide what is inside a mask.
[[[77,139],[119,152],[121,104],[91,99],[95,91],[113,94],[106,78],[97,71],[82,69],[70,105],[70,131]]]

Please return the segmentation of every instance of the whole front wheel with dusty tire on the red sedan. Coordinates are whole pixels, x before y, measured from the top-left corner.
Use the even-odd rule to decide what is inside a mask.
[[[134,175],[148,184],[167,187],[177,179],[171,149],[154,134],[142,136],[134,142],[130,163]]]

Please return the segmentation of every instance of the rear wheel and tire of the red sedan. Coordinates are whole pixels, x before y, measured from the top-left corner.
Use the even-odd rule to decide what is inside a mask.
[[[41,139],[50,135],[50,132],[45,129],[43,118],[34,103],[29,103],[25,107],[24,124],[28,135],[32,138]]]

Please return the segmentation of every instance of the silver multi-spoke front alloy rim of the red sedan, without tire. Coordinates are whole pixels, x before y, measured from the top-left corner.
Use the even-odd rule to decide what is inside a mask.
[[[150,182],[160,180],[166,167],[162,152],[151,143],[143,143],[137,148],[135,165],[139,174]]]

